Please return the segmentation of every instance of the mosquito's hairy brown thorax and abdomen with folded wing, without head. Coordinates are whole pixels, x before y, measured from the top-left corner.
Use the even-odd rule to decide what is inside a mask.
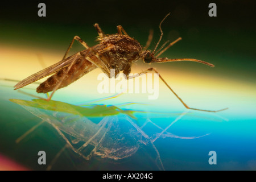
[[[141,57],[141,44],[139,44],[137,40],[130,38],[130,36],[122,34],[108,35],[104,38],[99,38],[98,40],[100,43],[96,46],[77,52],[59,63],[20,81],[15,85],[15,89],[22,88],[23,86],[30,84],[30,82],[40,80],[42,78],[42,73],[46,73],[50,69],[54,69],[57,65],[61,64],[63,64],[63,68],[53,71],[56,73],[46,81],[42,82],[42,84],[36,88],[36,92],[51,92],[60,81],[61,83],[58,89],[68,86],[86,73],[89,73],[98,67],[109,77],[110,69],[115,69],[115,75],[120,71],[123,71],[123,73],[128,76],[131,72],[131,64]],[[71,61],[73,61],[71,68],[68,67],[68,64],[64,64],[66,62],[71,64]]]

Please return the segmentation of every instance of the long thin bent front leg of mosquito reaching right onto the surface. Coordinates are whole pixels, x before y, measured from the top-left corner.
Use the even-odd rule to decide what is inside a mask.
[[[128,79],[130,78],[135,78],[135,77],[138,77],[140,76],[141,74],[143,73],[148,73],[148,72],[151,72],[151,71],[154,71],[155,73],[158,73],[159,77],[161,78],[161,80],[164,82],[164,84],[166,84],[166,86],[171,90],[172,93],[175,94],[175,96],[180,100],[180,102],[187,108],[187,109],[192,109],[192,110],[200,110],[200,111],[207,111],[207,112],[213,112],[213,113],[216,113],[218,111],[222,111],[222,110],[226,110],[228,108],[225,108],[225,109],[220,109],[220,110],[204,110],[204,109],[195,109],[195,108],[191,108],[189,107],[187,104],[185,104],[185,102],[183,100],[181,100],[181,98],[174,92],[174,90],[172,90],[172,88],[167,84],[167,82],[164,80],[164,78],[159,74],[158,71],[156,71],[155,68],[148,68],[146,69],[145,71],[141,72],[141,73],[138,73],[137,75],[134,75],[134,76],[131,76],[131,77],[127,77]]]

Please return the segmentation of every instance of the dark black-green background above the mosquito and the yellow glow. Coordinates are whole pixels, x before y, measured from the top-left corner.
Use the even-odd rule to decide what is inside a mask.
[[[40,2],[46,3],[46,17],[38,16]],[[208,15],[211,2],[217,5],[217,17]],[[64,54],[75,35],[89,46],[96,44],[93,24],[99,23],[106,34],[114,34],[121,24],[143,46],[153,29],[150,49],[154,49],[159,23],[169,12],[162,25],[161,44],[179,36],[183,40],[163,56],[209,61],[218,67],[214,69],[217,74],[228,72],[230,77],[254,80],[255,1],[5,1],[0,6],[0,42]],[[188,65],[201,69],[197,64]]]

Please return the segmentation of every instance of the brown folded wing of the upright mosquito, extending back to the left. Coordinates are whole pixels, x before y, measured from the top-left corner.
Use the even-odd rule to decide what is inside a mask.
[[[67,67],[68,65],[70,65],[72,63],[72,61],[74,61],[76,54],[72,55],[64,60],[59,61],[56,64],[51,65],[50,67],[43,69],[42,71],[39,71],[27,78],[25,78],[24,80],[18,82],[18,84],[16,84],[14,87],[16,89],[22,88],[23,86],[29,85],[32,82],[38,81],[46,76],[52,75],[53,73],[56,73],[57,71],[60,71],[60,69],[63,69],[65,67]]]

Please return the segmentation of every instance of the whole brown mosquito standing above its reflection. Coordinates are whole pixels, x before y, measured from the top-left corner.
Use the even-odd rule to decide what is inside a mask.
[[[117,34],[106,35],[101,30],[100,26],[96,23],[94,24],[94,27],[98,32],[97,40],[100,43],[98,43],[93,47],[89,47],[84,42],[84,40],[82,40],[79,36],[75,36],[72,39],[72,42],[69,45],[61,61],[18,82],[18,84],[14,86],[15,87],[14,90],[23,88],[23,86],[26,86],[46,76],[54,74],[51,77],[49,77],[46,81],[42,82],[42,84],[40,84],[38,88],[36,88],[36,92],[38,93],[52,92],[51,95],[47,97],[47,99],[44,99],[49,101],[51,100],[53,94],[56,92],[57,89],[68,86],[72,82],[84,76],[86,73],[93,71],[93,69],[96,69],[96,68],[100,68],[101,71],[104,72],[106,75],[108,75],[109,78],[113,76],[112,74],[110,74],[110,69],[115,70],[114,76],[117,76],[118,73],[122,71],[123,74],[126,75],[127,79],[135,78],[141,74],[145,74],[152,71],[152,72],[158,73],[160,79],[164,82],[164,84],[171,90],[172,93],[175,94],[175,96],[180,100],[180,102],[187,109],[208,111],[208,112],[217,112],[217,111],[228,109],[228,108],[225,108],[221,110],[204,110],[204,109],[195,109],[195,108],[189,107],[187,104],[185,104],[183,100],[181,100],[179,96],[177,96],[174,90],[172,90],[172,88],[167,84],[164,78],[153,67],[148,68],[137,75],[129,76],[129,73],[131,72],[131,65],[138,59],[142,59],[144,63],[147,63],[147,64],[167,63],[172,61],[195,61],[197,63],[203,63],[210,67],[214,67],[213,64],[207,63],[205,61],[197,60],[197,59],[187,59],[187,58],[168,59],[167,57],[159,58],[159,56],[162,55],[163,52],[165,52],[168,48],[173,46],[176,42],[181,40],[181,38],[178,38],[174,42],[171,42],[170,44],[168,44],[168,46],[163,49],[163,47],[166,46],[167,44],[166,42],[163,44],[162,47],[156,50],[163,36],[163,31],[161,28],[162,23],[167,18],[168,15],[170,15],[170,13],[168,13],[159,24],[161,34],[160,34],[158,43],[154,48],[154,51],[150,51],[147,49],[150,46],[152,41],[152,34],[153,34],[152,31],[150,31],[150,34],[148,35],[146,46],[142,47],[137,40],[135,40],[134,38],[131,38],[127,34],[127,32],[123,29],[122,26],[120,25],[117,26]],[[71,49],[72,44],[75,42],[75,40],[81,43],[82,46],[85,47],[85,49],[83,51],[75,53],[72,56],[67,57],[67,54]],[[160,51],[161,49],[162,51]]]

